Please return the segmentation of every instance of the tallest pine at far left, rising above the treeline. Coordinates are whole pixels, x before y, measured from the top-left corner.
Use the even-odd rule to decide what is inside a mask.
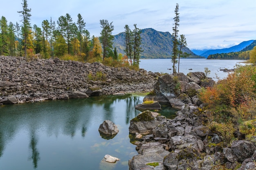
[[[30,29],[30,17],[31,17],[31,8],[29,9],[27,6],[27,0],[22,0],[23,3],[22,4],[22,11],[18,11],[18,13],[21,13],[21,17],[22,17],[22,35],[23,35],[23,40],[24,40],[24,54],[25,56],[27,56],[27,39],[29,37]]]

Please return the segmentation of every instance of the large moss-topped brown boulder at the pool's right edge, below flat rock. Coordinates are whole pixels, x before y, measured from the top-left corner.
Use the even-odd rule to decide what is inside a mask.
[[[141,135],[150,134],[151,130],[160,124],[149,110],[146,110],[139,114],[137,117],[130,120],[129,132],[140,133]]]

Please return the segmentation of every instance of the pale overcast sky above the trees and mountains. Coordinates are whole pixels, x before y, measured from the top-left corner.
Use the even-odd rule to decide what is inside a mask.
[[[20,23],[17,11],[22,0],[2,0],[0,16]],[[90,35],[99,36],[99,20],[113,22],[113,35],[137,24],[139,29],[153,28],[172,33],[175,6],[179,4],[179,34],[184,34],[189,49],[221,49],[247,40],[256,40],[256,0],[27,0],[31,8],[31,26],[41,27],[43,20],[55,22],[69,13],[73,22],[81,13]]]

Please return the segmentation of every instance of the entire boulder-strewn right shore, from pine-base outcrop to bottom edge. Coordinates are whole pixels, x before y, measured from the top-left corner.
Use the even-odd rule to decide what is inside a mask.
[[[129,160],[130,170],[256,170],[254,143],[240,134],[227,145],[218,131],[206,126],[207,110],[202,111],[198,90],[214,83],[201,72],[158,78],[144,99],[169,103],[179,111],[174,119],[146,110],[130,120],[130,139],[138,151]]]

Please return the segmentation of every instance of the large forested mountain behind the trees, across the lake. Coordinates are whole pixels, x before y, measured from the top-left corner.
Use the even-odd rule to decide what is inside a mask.
[[[171,58],[173,51],[172,35],[169,32],[160,32],[155,29],[141,29],[141,58]],[[125,54],[125,33],[114,35],[113,47],[117,48],[117,53]],[[189,48],[184,48],[183,52],[191,54],[191,58],[201,58],[194,54]]]

